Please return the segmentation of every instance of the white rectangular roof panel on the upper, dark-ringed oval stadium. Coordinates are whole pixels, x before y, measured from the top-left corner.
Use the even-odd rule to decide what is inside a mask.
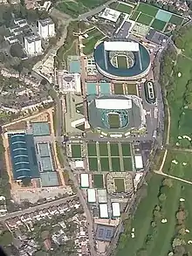
[[[139,52],[140,47],[139,43],[136,42],[120,42],[120,41],[113,41],[113,42],[104,42],[104,49],[105,51],[111,51],[111,52]]]

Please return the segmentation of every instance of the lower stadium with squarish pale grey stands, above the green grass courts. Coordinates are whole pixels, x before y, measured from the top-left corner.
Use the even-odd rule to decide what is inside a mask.
[[[99,96],[88,102],[90,126],[102,135],[139,133],[146,127],[141,98],[135,95]]]

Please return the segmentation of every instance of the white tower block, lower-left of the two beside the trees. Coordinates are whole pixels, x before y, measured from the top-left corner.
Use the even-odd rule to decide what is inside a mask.
[[[32,35],[24,38],[24,50],[29,56],[37,56],[43,52],[41,39],[38,36]]]

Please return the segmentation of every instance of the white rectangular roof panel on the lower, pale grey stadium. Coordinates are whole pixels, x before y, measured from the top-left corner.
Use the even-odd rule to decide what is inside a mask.
[[[96,99],[95,106],[100,109],[129,109],[132,108],[132,100]]]

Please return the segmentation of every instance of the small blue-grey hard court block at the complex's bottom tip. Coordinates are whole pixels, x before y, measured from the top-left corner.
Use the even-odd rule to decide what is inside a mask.
[[[110,242],[113,239],[114,227],[110,225],[98,225],[96,239]]]

